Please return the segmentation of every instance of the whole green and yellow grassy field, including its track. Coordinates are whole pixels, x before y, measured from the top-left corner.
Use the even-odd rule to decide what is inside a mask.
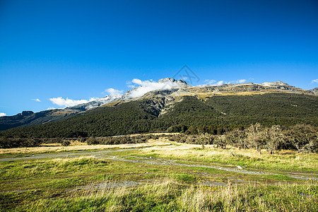
[[[0,150],[0,211],[318,211],[317,154],[73,145]]]

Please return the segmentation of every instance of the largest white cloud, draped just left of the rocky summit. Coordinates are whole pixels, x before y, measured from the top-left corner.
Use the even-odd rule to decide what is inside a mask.
[[[139,78],[134,78],[131,83],[136,84],[139,87],[134,88],[129,93],[131,98],[138,98],[143,96],[144,94],[148,93],[152,90],[170,90],[172,88],[179,88],[180,85],[177,82],[172,81],[163,81],[163,82],[154,82],[153,80],[150,81],[141,81]],[[129,85],[131,87],[131,85]]]

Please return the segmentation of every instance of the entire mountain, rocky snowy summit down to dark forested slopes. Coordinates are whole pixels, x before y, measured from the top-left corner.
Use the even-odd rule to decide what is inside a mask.
[[[213,130],[259,121],[317,125],[314,118],[317,117],[317,101],[312,90],[295,88],[281,81],[189,86],[182,80],[163,78],[123,95],[106,96],[63,110],[0,117],[0,129],[35,125],[11,132],[28,129],[28,132],[33,131],[33,136],[38,136],[36,131],[48,131],[50,136],[107,136],[167,131],[182,124],[187,128],[210,124]],[[117,123],[119,120],[122,124]],[[60,131],[49,130],[60,126],[63,126]],[[100,129],[96,129],[98,127]]]

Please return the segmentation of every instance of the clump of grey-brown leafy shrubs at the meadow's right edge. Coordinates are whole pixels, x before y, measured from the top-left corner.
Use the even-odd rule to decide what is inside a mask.
[[[225,138],[218,136],[214,144],[223,148],[224,143],[239,148],[266,148],[268,153],[280,149],[297,150],[302,153],[318,153],[317,127],[307,124],[297,124],[283,129],[279,125],[264,127],[252,124],[245,130],[235,129],[225,134]]]

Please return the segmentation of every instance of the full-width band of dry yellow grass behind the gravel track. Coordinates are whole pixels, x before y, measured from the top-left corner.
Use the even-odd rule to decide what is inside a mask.
[[[255,149],[239,149],[230,146],[228,146],[227,149],[220,149],[215,148],[213,145],[206,145],[204,149],[201,149],[201,145],[175,143],[168,139],[161,138],[157,140],[149,139],[146,143],[118,145],[87,145],[86,143],[79,143],[78,141],[72,142],[70,146],[61,146],[59,143],[51,143],[30,148],[2,148],[0,149],[0,154],[89,151],[110,148],[141,148],[138,155],[155,154],[160,158],[192,160],[204,163],[222,163],[259,169],[302,170],[310,172],[317,172],[318,170],[318,155],[314,153],[304,154],[295,151],[279,151],[270,155],[265,150],[262,150],[261,155],[259,155]],[[240,157],[233,157],[230,153],[231,151]]]

